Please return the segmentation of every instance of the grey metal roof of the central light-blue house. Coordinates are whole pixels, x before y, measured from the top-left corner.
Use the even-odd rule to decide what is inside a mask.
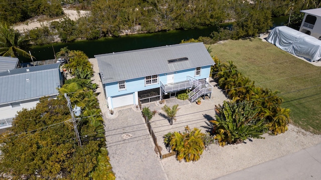
[[[202,42],[95,55],[103,83],[213,65]],[[169,63],[168,60],[185,58]]]

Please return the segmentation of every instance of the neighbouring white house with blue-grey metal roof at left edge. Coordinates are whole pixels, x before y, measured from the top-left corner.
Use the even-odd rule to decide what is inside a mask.
[[[0,128],[10,127],[17,111],[35,107],[40,97],[58,95],[62,83],[59,63],[0,72]]]

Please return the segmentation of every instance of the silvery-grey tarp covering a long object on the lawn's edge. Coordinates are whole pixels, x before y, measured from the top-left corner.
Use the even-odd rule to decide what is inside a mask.
[[[311,62],[321,58],[321,40],[287,26],[273,28],[266,40]]]

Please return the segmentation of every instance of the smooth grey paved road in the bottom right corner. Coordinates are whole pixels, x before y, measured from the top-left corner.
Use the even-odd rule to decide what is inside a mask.
[[[216,178],[225,179],[321,179],[321,144]]]

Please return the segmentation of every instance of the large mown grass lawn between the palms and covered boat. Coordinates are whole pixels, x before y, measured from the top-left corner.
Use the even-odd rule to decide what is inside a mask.
[[[206,45],[207,47],[209,45]],[[278,90],[292,122],[321,134],[321,67],[279,49],[260,38],[213,44],[211,55],[233,61],[258,87]],[[321,63],[321,62],[319,62]]]

